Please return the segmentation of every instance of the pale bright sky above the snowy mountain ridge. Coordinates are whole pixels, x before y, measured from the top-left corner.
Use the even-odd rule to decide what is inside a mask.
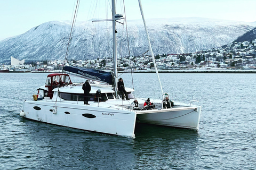
[[[111,0],[108,0],[111,1]],[[120,0],[117,0],[118,3]],[[0,40],[48,21],[70,21],[76,0],[0,0]],[[93,0],[96,3],[97,0]],[[98,0],[98,4],[105,0]],[[117,3],[117,4],[118,4]],[[146,19],[203,17],[256,21],[256,0],[141,0]],[[90,19],[90,0],[81,0],[77,20]],[[138,1],[125,2],[127,20],[141,19]],[[106,13],[105,10],[102,13]],[[118,11],[117,11],[118,13]]]

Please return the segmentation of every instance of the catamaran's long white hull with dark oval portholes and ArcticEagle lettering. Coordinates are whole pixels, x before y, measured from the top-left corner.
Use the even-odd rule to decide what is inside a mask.
[[[133,111],[53,101],[25,101],[23,112],[30,120],[134,138],[136,113]]]

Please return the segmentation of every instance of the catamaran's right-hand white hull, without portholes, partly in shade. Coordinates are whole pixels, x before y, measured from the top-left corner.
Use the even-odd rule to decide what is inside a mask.
[[[137,117],[142,123],[198,129],[201,106],[139,111]]]

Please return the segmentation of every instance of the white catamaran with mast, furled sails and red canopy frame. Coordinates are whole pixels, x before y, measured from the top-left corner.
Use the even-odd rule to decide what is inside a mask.
[[[123,100],[118,91],[116,22],[123,18],[123,15],[116,14],[115,0],[112,0],[113,73],[65,66],[62,73],[47,76],[46,83],[39,87],[37,95],[33,96],[34,100],[27,100],[23,103],[20,116],[75,129],[132,138],[135,138],[134,129],[137,122],[198,130],[201,106],[193,105],[191,102],[189,105],[175,102],[170,108],[164,105],[164,99],[169,95],[162,89],[140,0],[139,6],[148,38],[149,51],[163,94],[159,96],[159,99],[154,100],[154,107],[143,106],[145,102],[143,98],[137,98],[139,105],[135,106],[132,88],[125,88],[130,100]],[[73,83],[69,75],[90,80],[90,105],[84,105],[83,83]],[[95,98],[97,90],[101,91],[101,101]]]

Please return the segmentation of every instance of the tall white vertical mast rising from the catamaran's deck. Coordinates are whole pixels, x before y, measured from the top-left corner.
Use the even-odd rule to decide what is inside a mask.
[[[115,90],[115,95],[116,98],[118,97],[117,95],[117,51],[116,51],[116,3],[115,0],[112,0],[112,24],[113,24],[113,61],[114,61],[114,90]]]

